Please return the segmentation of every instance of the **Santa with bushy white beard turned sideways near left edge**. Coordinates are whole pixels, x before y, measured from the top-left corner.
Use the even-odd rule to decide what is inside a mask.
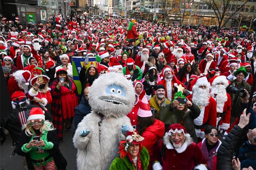
[[[8,80],[8,91],[10,96],[16,91],[21,91],[27,94],[30,78],[31,73],[28,70],[18,70],[13,73],[13,76]]]

